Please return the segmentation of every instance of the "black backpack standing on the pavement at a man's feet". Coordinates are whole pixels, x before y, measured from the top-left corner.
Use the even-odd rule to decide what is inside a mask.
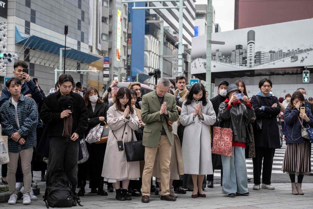
[[[74,199],[76,201],[75,197]],[[51,176],[44,193],[44,202],[47,208],[49,208],[49,206],[72,207],[72,185],[64,172],[58,171]]]

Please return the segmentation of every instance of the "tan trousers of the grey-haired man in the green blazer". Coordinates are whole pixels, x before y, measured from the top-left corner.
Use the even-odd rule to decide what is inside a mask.
[[[157,147],[145,147],[145,168],[142,174],[142,196],[150,196],[151,175],[153,171],[156,153],[159,154],[161,170],[162,195],[170,194],[170,163],[172,146],[167,135],[162,135]]]

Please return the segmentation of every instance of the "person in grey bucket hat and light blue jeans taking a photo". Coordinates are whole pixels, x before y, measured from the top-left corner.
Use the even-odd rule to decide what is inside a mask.
[[[229,197],[248,196],[247,168],[245,159],[246,145],[252,143],[248,123],[254,116],[249,98],[245,95],[240,102],[236,93],[241,93],[236,84],[227,87],[227,99],[218,109],[218,124],[233,131],[233,156],[222,155],[223,194]]]

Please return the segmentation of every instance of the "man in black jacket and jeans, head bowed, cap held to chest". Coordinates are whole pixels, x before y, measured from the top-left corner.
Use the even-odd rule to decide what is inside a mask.
[[[59,91],[50,94],[40,111],[40,117],[48,125],[50,141],[47,184],[59,169],[63,170],[72,184],[73,206],[76,206],[78,143],[88,128],[88,112],[83,97],[72,92],[73,77],[59,77]]]

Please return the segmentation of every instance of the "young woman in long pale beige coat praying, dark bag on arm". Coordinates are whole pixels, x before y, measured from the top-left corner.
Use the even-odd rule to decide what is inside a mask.
[[[137,141],[133,130],[141,127],[136,111],[131,107],[131,93],[129,89],[120,88],[116,94],[115,103],[107,111],[107,124],[110,128],[108,142],[104,156],[102,176],[104,181],[112,182],[116,190],[115,199],[119,201],[131,200],[127,193],[129,180],[139,180],[139,161],[127,162],[125,150],[121,150],[117,141]],[[116,137],[116,138],[115,138]],[[122,191],[120,189],[122,181]]]

